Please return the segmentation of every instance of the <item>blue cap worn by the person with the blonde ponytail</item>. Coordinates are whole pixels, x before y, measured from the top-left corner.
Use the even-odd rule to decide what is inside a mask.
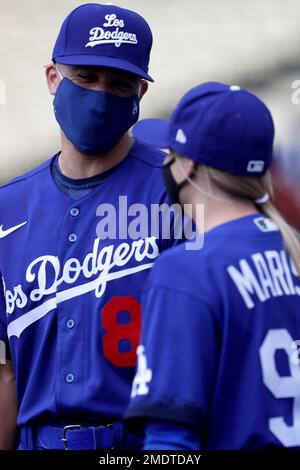
[[[145,119],[133,135],[236,175],[264,174],[272,162],[271,113],[257,96],[235,85],[207,82],[192,88],[168,121]]]

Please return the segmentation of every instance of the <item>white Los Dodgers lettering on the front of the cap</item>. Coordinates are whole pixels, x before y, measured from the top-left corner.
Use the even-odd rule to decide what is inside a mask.
[[[116,14],[106,15],[105,19],[103,27],[96,26],[90,30],[91,36],[85,47],[95,47],[100,44],[114,44],[120,47],[121,44],[138,43],[136,34],[120,29],[125,27],[125,22],[118,19]]]

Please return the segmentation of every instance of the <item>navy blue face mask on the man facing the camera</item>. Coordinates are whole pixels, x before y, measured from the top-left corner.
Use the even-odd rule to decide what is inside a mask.
[[[82,88],[63,78],[53,101],[61,129],[82,153],[96,155],[114,147],[139,118],[139,97],[121,97]]]

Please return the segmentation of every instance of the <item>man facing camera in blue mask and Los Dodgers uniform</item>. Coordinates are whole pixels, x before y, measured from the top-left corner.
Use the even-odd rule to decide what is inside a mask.
[[[17,414],[18,449],[140,445],[121,422],[140,292],[173,244],[161,230],[139,236],[149,214],[135,217],[137,205],[167,201],[164,154],[128,134],[153,81],[151,46],[148,24],[133,11],[94,3],[73,10],[46,68],[61,151],[0,189],[0,340],[8,356],[0,366],[1,448],[15,445]]]

